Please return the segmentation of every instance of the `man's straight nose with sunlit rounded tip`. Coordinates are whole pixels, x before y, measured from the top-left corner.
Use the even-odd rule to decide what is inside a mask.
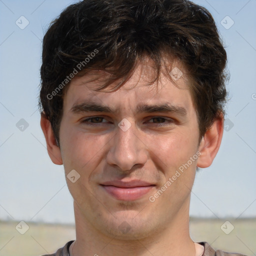
[[[117,126],[115,136],[110,143],[106,156],[109,165],[127,171],[134,165],[144,165],[147,161],[147,147],[134,124],[125,131]]]

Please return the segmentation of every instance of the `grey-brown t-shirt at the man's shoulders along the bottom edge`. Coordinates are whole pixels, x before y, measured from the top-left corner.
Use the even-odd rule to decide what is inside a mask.
[[[69,254],[69,246],[71,245],[73,241],[67,242],[64,247],[59,248],[55,253],[53,254],[45,254],[42,256],[70,256]],[[202,256],[246,256],[244,254],[240,253],[230,253],[230,252],[225,252],[222,250],[214,250],[212,247],[207,242],[198,242],[199,244],[203,245],[204,247],[204,252]]]

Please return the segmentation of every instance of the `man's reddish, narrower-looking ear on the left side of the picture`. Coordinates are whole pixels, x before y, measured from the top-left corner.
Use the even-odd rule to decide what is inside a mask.
[[[55,164],[63,164],[60,148],[57,145],[50,121],[43,112],[41,113],[40,125],[46,140],[47,151],[51,161]]]

